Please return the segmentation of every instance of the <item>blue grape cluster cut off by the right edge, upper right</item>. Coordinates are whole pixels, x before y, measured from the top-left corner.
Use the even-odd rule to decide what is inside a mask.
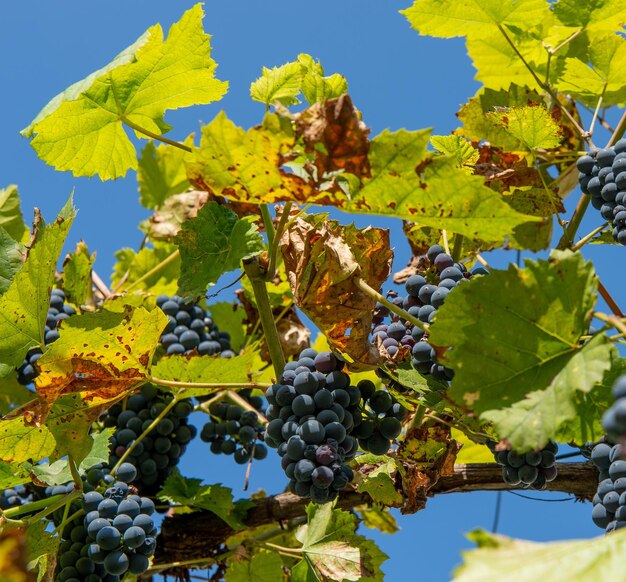
[[[578,158],[580,189],[613,225],[613,239],[626,245],[626,139]]]

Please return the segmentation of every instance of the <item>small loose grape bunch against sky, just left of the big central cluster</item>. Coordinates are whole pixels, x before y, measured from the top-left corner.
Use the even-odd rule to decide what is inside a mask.
[[[239,392],[251,407],[262,412],[263,399],[253,396],[250,390]],[[251,458],[261,460],[267,457],[267,448],[258,442],[264,428],[259,415],[253,410],[244,410],[237,404],[214,402],[209,406],[211,420],[200,432],[205,443],[211,443],[211,452],[233,455],[235,462],[243,465]]]

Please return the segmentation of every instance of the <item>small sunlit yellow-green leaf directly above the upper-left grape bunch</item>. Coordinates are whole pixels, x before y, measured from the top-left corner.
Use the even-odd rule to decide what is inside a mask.
[[[137,289],[154,295],[176,294],[180,256],[175,245],[154,242],[138,252],[123,248],[115,253],[115,258],[111,280],[116,291]]]

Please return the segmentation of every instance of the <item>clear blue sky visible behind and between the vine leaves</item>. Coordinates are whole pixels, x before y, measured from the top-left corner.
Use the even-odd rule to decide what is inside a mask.
[[[385,128],[402,127],[450,132],[457,125],[459,105],[478,88],[474,70],[461,40],[422,38],[409,28],[398,14],[409,3],[207,2],[205,29],[213,35],[218,77],[230,82],[230,91],[220,103],[169,113],[166,120],[175,128],[170,135],[184,138],[222,108],[239,125],[257,123],[263,107],[250,101],[250,82],[262,66],[280,65],[301,52],[320,59],[327,73],[340,72],[347,77],[353,100],[373,135]],[[38,160],[18,132],[59,91],[109,62],[150,25],[161,22],[167,29],[192,5],[191,0],[0,3],[0,186],[19,185],[27,220],[34,206],[52,218],[75,189],[79,214],[67,249],[85,239],[90,250],[97,251],[96,269],[104,279],[110,275],[114,251],[122,246],[136,248],[141,240],[137,224],[147,211],[138,203],[135,176],[102,183],[55,172]],[[572,195],[568,200],[570,209],[576,198]],[[590,215],[582,234],[599,224],[598,214]],[[371,222],[357,220],[362,226]],[[373,222],[392,228],[394,266],[401,268],[408,259],[408,245],[399,234],[399,221]],[[594,260],[617,301],[626,305],[619,252],[624,251],[595,247],[586,255]],[[504,266],[514,260],[512,254],[499,253],[493,262]],[[243,495],[243,469],[231,459],[212,456],[200,441],[190,447],[181,469],[208,483],[223,482],[236,495]],[[276,456],[270,455],[255,465],[251,490],[280,492],[285,484],[281,474]],[[387,580],[406,580],[419,572],[420,578],[429,582],[444,581],[459,563],[460,550],[471,546],[463,533],[475,527],[490,528],[494,505],[494,493],[440,496],[429,501],[425,511],[398,516],[402,531],[394,536],[369,530],[363,533],[376,539],[389,555],[383,568]],[[590,504],[540,503],[504,494],[499,531],[533,540],[590,537],[599,533],[590,512]]]

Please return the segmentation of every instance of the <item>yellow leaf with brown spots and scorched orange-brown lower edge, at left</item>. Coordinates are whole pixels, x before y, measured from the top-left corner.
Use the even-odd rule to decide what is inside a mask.
[[[159,336],[167,324],[160,309],[127,307],[64,320],[61,337],[37,362],[37,392],[49,403],[64,394],[115,399],[145,383]]]

